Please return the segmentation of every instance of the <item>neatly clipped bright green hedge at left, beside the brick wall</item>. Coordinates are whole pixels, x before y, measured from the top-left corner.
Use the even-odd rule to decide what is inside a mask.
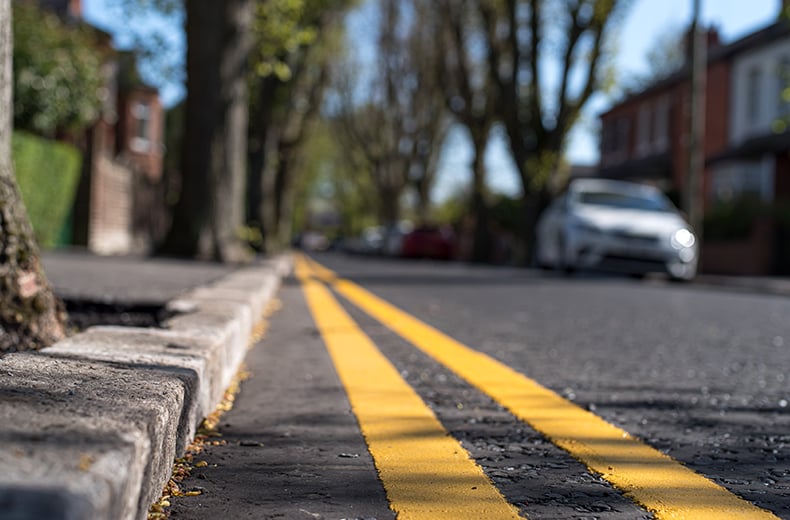
[[[14,132],[12,147],[17,184],[39,245],[65,245],[82,155],[73,146],[23,132]]]

